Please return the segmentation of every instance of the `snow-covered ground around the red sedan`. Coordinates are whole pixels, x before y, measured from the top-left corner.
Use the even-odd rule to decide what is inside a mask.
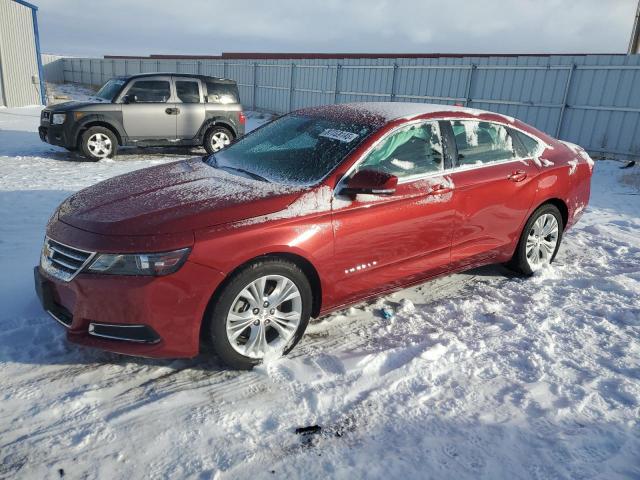
[[[56,205],[201,153],[82,163],[40,142],[38,112],[0,109],[0,478],[640,478],[638,167],[597,163],[534,278],[432,281],[238,373],[69,345],[42,312],[31,269]]]

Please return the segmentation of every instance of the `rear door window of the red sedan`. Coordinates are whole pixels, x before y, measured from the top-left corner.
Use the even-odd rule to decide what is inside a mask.
[[[509,132],[502,125],[474,120],[451,122],[458,165],[498,162],[515,157]]]

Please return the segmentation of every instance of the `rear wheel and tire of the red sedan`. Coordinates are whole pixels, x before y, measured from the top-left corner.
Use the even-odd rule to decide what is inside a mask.
[[[507,266],[530,276],[544,264],[552,263],[560,248],[563,229],[562,214],[558,207],[550,203],[541,205],[527,220],[513,258]],[[543,235],[547,232],[547,235]]]

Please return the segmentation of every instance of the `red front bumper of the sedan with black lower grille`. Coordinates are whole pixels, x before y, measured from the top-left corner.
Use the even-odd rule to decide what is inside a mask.
[[[153,358],[198,354],[202,319],[223,278],[189,261],[165,277],[81,273],[70,282],[34,269],[40,303],[65,326],[69,341]]]

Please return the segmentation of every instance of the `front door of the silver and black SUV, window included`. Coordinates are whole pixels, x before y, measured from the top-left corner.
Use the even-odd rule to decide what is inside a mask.
[[[128,102],[125,101],[128,99]],[[176,112],[170,76],[134,79],[120,96],[127,136],[137,140],[176,140]]]

